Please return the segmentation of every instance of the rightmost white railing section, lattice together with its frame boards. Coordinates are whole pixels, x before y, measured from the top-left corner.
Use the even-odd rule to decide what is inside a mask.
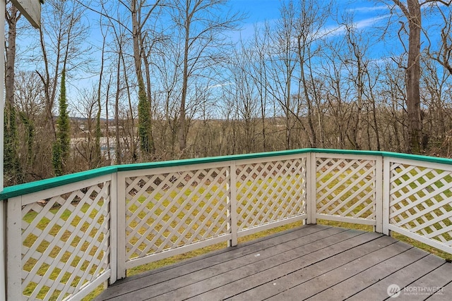
[[[452,165],[385,159],[385,188],[383,233],[452,253]]]

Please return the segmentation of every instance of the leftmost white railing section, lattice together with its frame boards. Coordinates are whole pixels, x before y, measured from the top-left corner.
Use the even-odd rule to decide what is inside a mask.
[[[110,184],[102,176],[8,199],[8,300],[81,296],[112,276]]]

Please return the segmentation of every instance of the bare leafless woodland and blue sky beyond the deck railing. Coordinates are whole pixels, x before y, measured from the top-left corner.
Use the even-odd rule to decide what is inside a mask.
[[[302,147],[451,157],[451,1],[375,4],[369,29],[281,1],[242,38],[227,0],[47,0],[35,31],[7,1],[5,185]]]

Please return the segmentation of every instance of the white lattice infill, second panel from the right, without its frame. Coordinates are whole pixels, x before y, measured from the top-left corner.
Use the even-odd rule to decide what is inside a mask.
[[[316,158],[317,213],[375,219],[376,162]]]

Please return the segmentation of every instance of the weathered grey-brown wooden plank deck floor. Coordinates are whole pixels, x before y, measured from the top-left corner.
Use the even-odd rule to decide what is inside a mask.
[[[390,299],[389,285],[405,290]],[[128,277],[96,300],[451,300],[451,296],[452,264],[444,259],[379,233],[309,225]]]

